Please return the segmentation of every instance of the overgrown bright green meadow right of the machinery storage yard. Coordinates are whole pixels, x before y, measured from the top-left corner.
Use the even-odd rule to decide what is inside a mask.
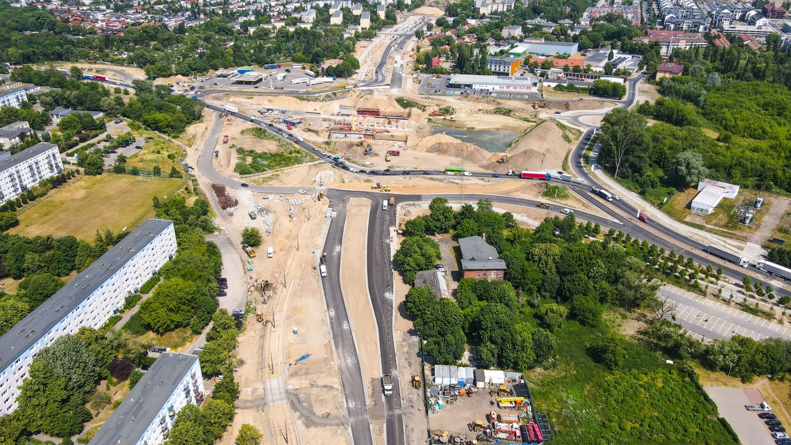
[[[716,405],[657,353],[626,340],[623,366],[610,371],[589,354],[595,329],[566,321],[556,335],[558,359],[525,375],[536,409],[549,413],[558,432],[552,443],[735,443]]]

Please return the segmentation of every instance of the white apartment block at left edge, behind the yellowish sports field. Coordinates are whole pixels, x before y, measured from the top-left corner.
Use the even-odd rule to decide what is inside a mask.
[[[0,160],[0,203],[13,200],[28,188],[63,173],[58,146],[37,143]],[[2,366],[2,364],[0,364]]]

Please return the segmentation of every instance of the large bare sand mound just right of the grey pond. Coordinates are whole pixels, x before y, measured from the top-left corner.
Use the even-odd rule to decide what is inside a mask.
[[[508,169],[562,169],[563,159],[572,146],[572,143],[563,140],[563,131],[554,122],[547,120],[505,152],[509,158],[507,164],[494,164],[491,168],[498,173],[505,173]],[[496,162],[498,158],[501,158],[501,154],[494,154],[490,161]]]

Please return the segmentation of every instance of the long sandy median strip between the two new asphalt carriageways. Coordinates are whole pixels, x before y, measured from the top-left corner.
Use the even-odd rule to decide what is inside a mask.
[[[375,334],[377,323],[373,317],[368,295],[365,244],[368,238],[368,215],[371,201],[351,198],[343,229],[343,254],[341,255],[341,284],[346,308],[349,310],[352,332],[362,367],[363,381],[368,387],[369,402],[379,397],[376,382],[382,375],[379,358],[379,340]],[[372,339],[373,337],[373,339]]]

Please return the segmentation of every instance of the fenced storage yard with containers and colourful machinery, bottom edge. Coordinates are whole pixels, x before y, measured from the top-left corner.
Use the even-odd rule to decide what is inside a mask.
[[[554,436],[518,372],[434,365],[426,382],[434,443],[543,443]]]

